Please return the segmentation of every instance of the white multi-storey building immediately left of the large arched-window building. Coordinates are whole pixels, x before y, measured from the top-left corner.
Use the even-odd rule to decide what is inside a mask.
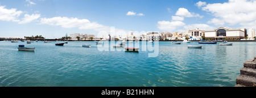
[[[196,29],[189,29],[188,31],[189,40],[203,40],[201,36],[205,36],[205,31]]]

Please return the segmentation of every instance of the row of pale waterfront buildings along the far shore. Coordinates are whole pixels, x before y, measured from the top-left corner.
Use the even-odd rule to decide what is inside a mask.
[[[79,36],[82,40],[88,40],[90,37],[93,37],[94,40],[254,40],[255,34],[254,29],[248,29],[247,31],[245,28],[220,27],[212,31],[204,31],[196,28],[175,33],[148,32],[139,36],[133,35],[133,32],[126,36],[104,35],[100,38],[96,38],[94,35],[80,33],[72,33],[70,36],[72,40],[77,40],[76,36]]]

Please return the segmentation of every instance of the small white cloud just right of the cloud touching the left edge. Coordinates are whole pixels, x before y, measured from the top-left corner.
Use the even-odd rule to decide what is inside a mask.
[[[25,14],[24,18],[20,22],[18,22],[18,24],[30,23],[33,20],[36,20],[38,18],[40,18],[40,14],[32,14],[32,15]]]

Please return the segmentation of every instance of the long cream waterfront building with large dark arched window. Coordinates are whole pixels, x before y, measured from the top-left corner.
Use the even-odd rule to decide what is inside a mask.
[[[247,36],[245,28],[220,27],[213,31],[205,31],[207,40],[241,40]]]

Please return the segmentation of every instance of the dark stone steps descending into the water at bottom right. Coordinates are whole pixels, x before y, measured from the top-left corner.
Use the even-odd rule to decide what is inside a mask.
[[[256,57],[243,63],[235,87],[256,87]]]

